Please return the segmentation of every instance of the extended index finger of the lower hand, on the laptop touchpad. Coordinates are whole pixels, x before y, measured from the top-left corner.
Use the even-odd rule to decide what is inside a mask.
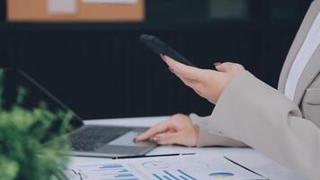
[[[156,134],[168,130],[171,126],[172,126],[172,122],[171,121],[161,122],[161,123],[157,124],[156,126],[150,128],[146,132],[140,134],[136,138],[136,140],[137,141],[143,141],[143,140],[150,139],[151,137],[155,136]]]

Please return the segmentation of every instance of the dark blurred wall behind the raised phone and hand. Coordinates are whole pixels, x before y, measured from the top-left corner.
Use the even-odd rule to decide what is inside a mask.
[[[143,44],[156,35],[199,67],[241,63],[269,85],[311,0],[147,0],[143,23],[6,23],[0,63],[22,67],[84,119],[208,115],[213,105]]]

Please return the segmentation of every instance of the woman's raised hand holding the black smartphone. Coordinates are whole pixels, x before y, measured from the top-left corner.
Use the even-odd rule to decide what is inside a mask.
[[[244,71],[244,67],[226,62],[215,64],[218,71],[189,67],[167,56],[161,56],[170,70],[178,76],[185,85],[190,86],[197,94],[211,103],[217,103],[218,98],[232,77]]]

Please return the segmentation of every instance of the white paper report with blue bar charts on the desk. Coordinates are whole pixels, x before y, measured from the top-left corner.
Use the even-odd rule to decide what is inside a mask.
[[[84,180],[258,180],[265,179],[225,157],[188,155],[107,160],[73,168]]]

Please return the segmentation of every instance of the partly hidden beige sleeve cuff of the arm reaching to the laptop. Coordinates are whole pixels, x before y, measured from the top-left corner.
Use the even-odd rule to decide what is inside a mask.
[[[247,147],[247,145],[245,145],[243,142],[239,140],[230,139],[225,136],[210,133],[208,125],[210,116],[200,117],[195,113],[191,113],[190,117],[195,128],[199,131],[197,147]]]

